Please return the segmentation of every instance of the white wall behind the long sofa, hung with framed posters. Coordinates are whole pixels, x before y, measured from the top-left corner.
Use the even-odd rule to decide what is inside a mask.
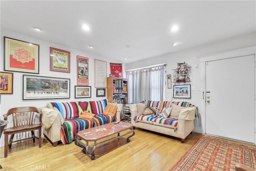
[[[90,52],[82,52],[69,47],[60,46],[58,44],[53,44],[51,42],[45,42],[35,38],[31,38],[25,35],[17,34],[14,32],[9,32],[7,30],[1,30],[1,44],[0,44],[0,71],[1,72],[11,72],[4,71],[4,36],[22,40],[25,42],[32,42],[34,44],[39,44],[39,74],[30,74],[22,72],[12,72],[13,74],[13,94],[2,94],[0,103],[0,120],[3,120],[3,114],[5,114],[8,109],[12,107],[20,106],[35,106],[43,107],[48,102],[66,102],[66,101],[91,101],[106,99],[106,97],[96,97],[96,88],[94,87],[94,59],[102,60],[107,62],[107,77],[110,74],[110,62],[117,63],[116,61],[111,61],[102,56],[95,56],[90,54]],[[50,47],[66,50],[70,52],[70,73],[64,72],[53,72],[50,71]],[[89,85],[91,86],[91,98],[75,99],[74,98],[74,86],[77,85],[77,73],[76,73],[76,56],[84,56],[89,58]],[[122,67],[123,72],[125,71],[125,65]],[[34,75],[34,76],[47,76],[56,78],[70,78],[70,99],[36,99],[36,100],[22,100],[22,75]],[[125,76],[125,72],[123,73]],[[106,92],[107,93],[107,92]],[[8,119],[9,120],[9,119]],[[8,123],[10,125],[11,123]],[[0,146],[4,145],[4,136],[0,139]]]

